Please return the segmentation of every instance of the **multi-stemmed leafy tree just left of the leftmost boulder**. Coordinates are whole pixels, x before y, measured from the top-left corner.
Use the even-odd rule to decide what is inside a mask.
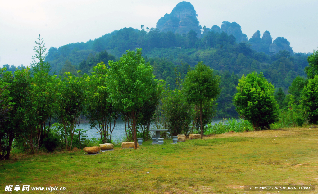
[[[73,136],[76,128],[77,118],[82,114],[84,108],[85,80],[75,77],[66,72],[58,81],[56,92],[56,111],[54,116],[63,125],[65,133],[66,150],[68,150],[68,134],[71,134],[70,149],[73,144]]]

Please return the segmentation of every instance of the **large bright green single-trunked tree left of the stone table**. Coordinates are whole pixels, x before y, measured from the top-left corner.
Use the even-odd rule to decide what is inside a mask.
[[[143,106],[156,94],[158,80],[153,67],[145,63],[142,49],[127,51],[120,60],[109,61],[109,91],[112,103],[132,120],[135,149],[137,149],[136,123]]]

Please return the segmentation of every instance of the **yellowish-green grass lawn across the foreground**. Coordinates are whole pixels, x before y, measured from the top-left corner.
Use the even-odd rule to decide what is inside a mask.
[[[103,194],[278,193],[244,191],[244,185],[317,186],[318,128],[227,133],[178,144],[166,140],[161,146],[150,143],[137,150],[115,146],[114,151],[88,156],[84,151],[16,155],[0,162],[0,193],[5,185],[17,184],[66,187],[54,193]],[[47,193],[28,193],[32,192]],[[318,193],[318,188],[279,193]]]

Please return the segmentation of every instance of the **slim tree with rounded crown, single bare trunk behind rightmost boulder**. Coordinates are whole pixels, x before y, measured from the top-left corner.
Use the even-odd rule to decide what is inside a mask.
[[[200,130],[203,138],[202,105],[217,98],[220,94],[220,76],[214,75],[213,69],[199,62],[194,70],[190,70],[184,81],[184,92],[190,103],[199,105]]]

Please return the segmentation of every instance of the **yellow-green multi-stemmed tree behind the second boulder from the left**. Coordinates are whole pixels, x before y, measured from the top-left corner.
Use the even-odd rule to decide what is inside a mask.
[[[108,69],[104,62],[93,67],[92,75],[86,78],[85,115],[91,128],[96,128],[104,143],[112,141],[112,133],[120,110],[116,109],[110,99],[107,80]],[[113,121],[113,125],[112,125]]]

